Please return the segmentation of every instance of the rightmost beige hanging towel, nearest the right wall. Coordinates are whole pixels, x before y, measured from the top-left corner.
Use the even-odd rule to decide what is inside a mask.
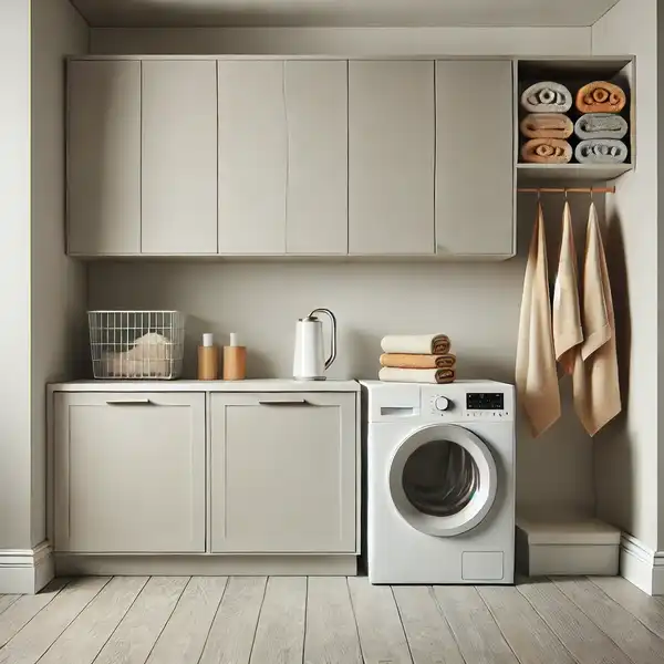
[[[594,436],[622,408],[613,300],[594,204],[588,217],[581,321],[584,341],[574,364],[574,409]]]

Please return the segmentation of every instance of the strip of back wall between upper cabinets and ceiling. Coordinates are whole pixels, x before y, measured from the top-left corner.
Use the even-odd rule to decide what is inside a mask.
[[[590,28],[101,28],[93,53],[588,55]]]

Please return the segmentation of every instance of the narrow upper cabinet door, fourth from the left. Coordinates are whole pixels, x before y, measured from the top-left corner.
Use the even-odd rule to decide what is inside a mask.
[[[347,253],[347,62],[284,63],[288,253]]]

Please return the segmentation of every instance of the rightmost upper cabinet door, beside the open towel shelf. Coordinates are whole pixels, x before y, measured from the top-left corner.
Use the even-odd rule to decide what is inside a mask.
[[[443,257],[515,253],[512,103],[511,62],[436,62],[436,245]]]

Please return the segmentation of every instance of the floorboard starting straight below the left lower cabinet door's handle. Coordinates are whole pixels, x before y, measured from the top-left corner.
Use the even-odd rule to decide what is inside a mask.
[[[40,664],[91,664],[129,610],[147,577],[115,577],[62,633]]]

